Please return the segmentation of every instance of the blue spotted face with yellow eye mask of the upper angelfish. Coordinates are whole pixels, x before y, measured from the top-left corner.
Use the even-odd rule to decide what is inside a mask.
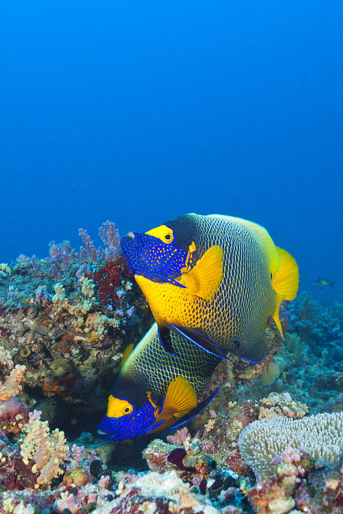
[[[196,262],[196,247],[190,234],[161,225],[145,234],[129,232],[122,237],[121,249],[131,272],[153,282],[179,284],[179,277]]]

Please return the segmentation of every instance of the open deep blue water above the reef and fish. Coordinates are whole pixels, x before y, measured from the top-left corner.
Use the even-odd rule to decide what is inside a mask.
[[[342,91],[341,0],[4,0],[0,262],[221,213],[342,301]]]

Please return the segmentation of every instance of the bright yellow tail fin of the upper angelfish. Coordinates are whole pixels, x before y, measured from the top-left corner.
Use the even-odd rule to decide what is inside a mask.
[[[294,300],[296,298],[299,288],[299,268],[290,253],[278,246],[276,248],[280,256],[280,269],[272,281],[272,286],[277,292],[277,304],[273,318],[283,338],[279,308],[282,300]]]

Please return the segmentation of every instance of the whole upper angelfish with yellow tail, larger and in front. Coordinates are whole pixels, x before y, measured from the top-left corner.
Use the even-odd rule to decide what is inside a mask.
[[[260,225],[184,214],[144,234],[129,232],[121,248],[168,352],[175,352],[174,332],[218,357],[232,352],[261,362],[268,316],[282,335],[279,307],[297,295],[298,266]]]

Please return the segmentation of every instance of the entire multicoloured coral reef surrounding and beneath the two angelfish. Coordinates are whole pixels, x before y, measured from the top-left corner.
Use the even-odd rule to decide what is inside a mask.
[[[269,318],[265,360],[223,361],[187,427],[104,442],[123,350],[153,318],[114,224],[99,248],[79,233],[79,252],[0,265],[0,514],[343,514],[343,305],[283,302],[284,341]]]

